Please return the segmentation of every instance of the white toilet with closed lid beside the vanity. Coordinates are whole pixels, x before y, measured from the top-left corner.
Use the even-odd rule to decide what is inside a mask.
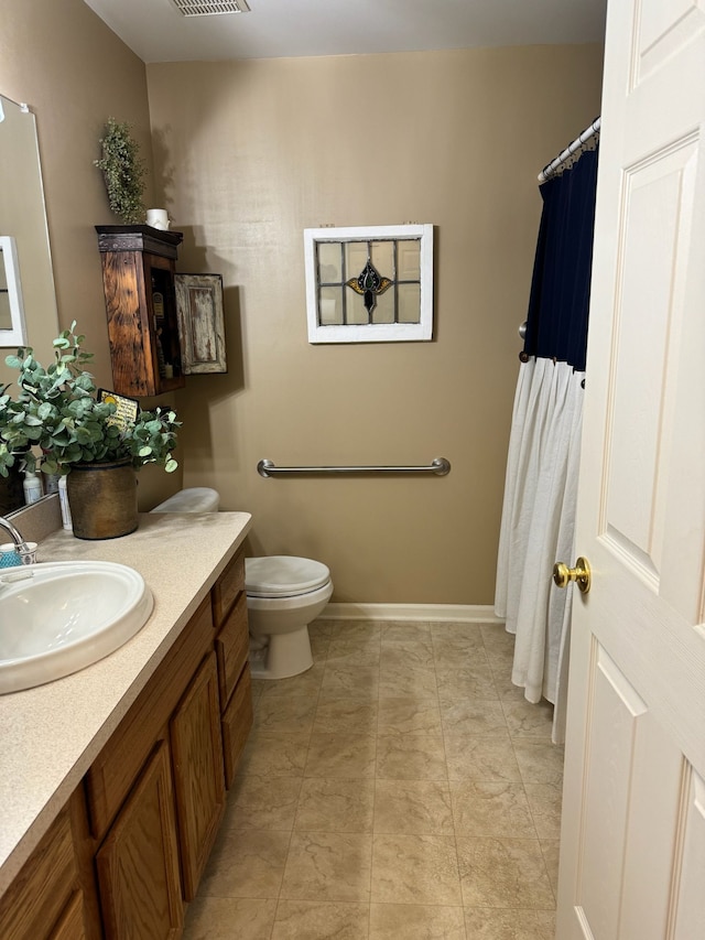
[[[207,486],[182,489],[152,512],[217,512],[220,496]],[[308,624],[333,595],[325,564],[295,555],[245,559],[250,670],[257,679],[288,679],[313,666]]]

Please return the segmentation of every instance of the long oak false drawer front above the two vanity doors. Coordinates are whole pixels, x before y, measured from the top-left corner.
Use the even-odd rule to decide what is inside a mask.
[[[205,597],[149,684],[86,774],[90,830],[101,839],[120,809],[154,742],[213,642],[210,597]]]

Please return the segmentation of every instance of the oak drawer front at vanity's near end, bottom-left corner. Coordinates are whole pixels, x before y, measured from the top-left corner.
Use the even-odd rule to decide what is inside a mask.
[[[56,817],[0,903],[2,940],[45,940],[78,887],[70,818]]]

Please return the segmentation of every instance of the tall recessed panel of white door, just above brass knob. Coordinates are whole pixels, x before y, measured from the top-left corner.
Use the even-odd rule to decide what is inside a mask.
[[[622,228],[617,247],[614,306],[615,379],[607,418],[609,458],[604,527],[611,542],[631,555],[653,582],[661,577],[668,514],[668,463],[674,418],[677,356],[683,314],[680,252],[687,248],[696,162],[693,140],[679,142],[629,168],[623,182]],[[690,164],[690,168],[688,168]],[[648,343],[631,342],[634,336]],[[633,499],[637,489],[641,498]]]

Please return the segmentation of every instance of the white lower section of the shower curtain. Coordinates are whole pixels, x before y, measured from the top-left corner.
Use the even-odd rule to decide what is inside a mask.
[[[573,585],[552,581],[573,561],[584,372],[531,358],[520,366],[505,483],[495,611],[516,634],[512,682],[530,702],[554,704],[553,741],[565,734]]]

